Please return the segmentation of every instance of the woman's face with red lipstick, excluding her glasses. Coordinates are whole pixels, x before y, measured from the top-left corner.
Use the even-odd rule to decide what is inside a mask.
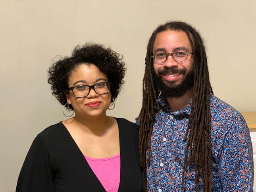
[[[108,81],[108,77],[96,65],[83,63],[75,67],[71,72],[68,79],[68,86],[93,85],[106,81]],[[83,88],[83,86],[81,87]],[[87,118],[103,117],[106,115],[110,101],[110,91],[106,94],[97,94],[91,88],[89,94],[81,98],[76,98],[71,90],[67,93],[67,103],[72,104],[76,116],[86,116]]]

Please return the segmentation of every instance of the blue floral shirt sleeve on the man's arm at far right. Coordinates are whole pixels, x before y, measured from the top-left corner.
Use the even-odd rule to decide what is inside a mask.
[[[223,191],[253,191],[253,152],[249,129],[242,116],[232,120],[224,138],[218,176]]]

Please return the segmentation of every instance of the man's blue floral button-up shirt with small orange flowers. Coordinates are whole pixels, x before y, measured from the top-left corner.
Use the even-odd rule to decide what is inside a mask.
[[[158,98],[160,111],[152,130],[150,165],[147,166],[148,191],[181,191],[186,141],[183,141],[191,112],[171,111],[166,100]],[[238,111],[210,96],[212,134],[213,191],[252,191],[252,142],[247,124]],[[185,171],[185,191],[194,191],[195,170]],[[199,183],[202,191],[202,180]]]

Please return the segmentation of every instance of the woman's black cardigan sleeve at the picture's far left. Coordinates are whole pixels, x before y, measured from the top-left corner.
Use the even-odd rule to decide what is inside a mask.
[[[16,192],[54,192],[49,155],[40,136],[35,138],[25,158]]]

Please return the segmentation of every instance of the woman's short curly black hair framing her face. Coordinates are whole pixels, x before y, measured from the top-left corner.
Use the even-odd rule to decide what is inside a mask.
[[[125,75],[125,63],[123,56],[110,48],[105,48],[99,44],[87,43],[83,46],[76,46],[71,57],[62,58],[49,67],[49,79],[54,95],[58,101],[64,105],[67,103],[66,94],[68,88],[68,79],[73,69],[83,63],[96,65],[100,71],[105,73],[108,81],[111,83],[110,92],[112,98],[117,98],[123,77]],[[71,105],[68,105],[73,109]]]

